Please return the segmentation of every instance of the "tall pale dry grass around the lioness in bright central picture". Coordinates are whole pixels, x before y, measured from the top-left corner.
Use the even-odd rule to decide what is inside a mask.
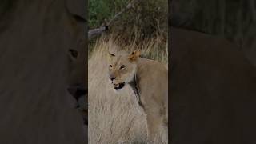
[[[99,39],[90,53],[88,63],[88,100],[90,144],[148,143],[146,142],[146,117],[129,86],[116,94],[107,78],[106,50],[114,46],[114,38]],[[120,43],[119,43],[120,44]],[[166,48],[160,49],[156,38],[141,43],[143,55],[167,64]],[[133,50],[130,44],[124,49]],[[160,143],[158,140],[154,143]]]

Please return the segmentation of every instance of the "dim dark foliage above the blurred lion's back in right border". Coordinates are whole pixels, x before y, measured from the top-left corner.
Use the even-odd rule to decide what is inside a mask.
[[[235,42],[256,66],[256,1],[173,0],[171,25]]]

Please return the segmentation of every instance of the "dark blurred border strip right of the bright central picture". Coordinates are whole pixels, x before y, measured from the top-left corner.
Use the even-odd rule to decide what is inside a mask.
[[[175,53],[173,53],[172,50],[172,42],[171,42],[171,37],[172,35],[172,30],[170,26],[180,28],[183,30],[193,30],[193,31],[198,31],[204,34],[209,34],[214,36],[215,38],[222,38],[230,41],[231,43],[234,43],[236,46],[234,49],[238,48],[240,51],[241,55],[243,55],[245,58],[248,59],[250,64],[252,66],[256,66],[256,1],[254,0],[247,0],[247,1],[232,1],[232,0],[219,0],[219,1],[214,1],[214,0],[208,0],[208,1],[203,1],[203,0],[192,0],[192,1],[186,1],[186,0],[170,0],[169,1],[169,115],[171,110],[170,110],[170,105],[172,102],[170,101],[172,97],[172,89],[170,86],[170,83],[174,81],[174,77],[171,75],[172,74],[172,58],[174,57]],[[172,35],[172,37],[175,37],[175,35]],[[196,49],[196,48],[195,48]],[[196,65],[196,64],[194,64]],[[254,71],[254,67],[251,67],[251,71]],[[255,86],[256,89],[256,86]],[[234,90],[236,91],[236,90]],[[175,95],[176,97],[178,95]],[[191,94],[190,96],[193,96]],[[241,102],[243,101],[245,95],[241,95]],[[231,100],[231,99],[230,99]],[[252,106],[252,103],[254,102],[253,99],[251,99],[251,103],[248,104],[248,106]],[[184,100],[185,101],[185,100]],[[200,104],[198,104],[200,105]],[[217,105],[217,103],[216,103]],[[254,103],[256,105],[256,103]],[[245,105],[246,106],[246,105]],[[241,106],[241,107],[245,107]],[[184,106],[186,107],[186,106]],[[225,106],[224,106],[225,107]],[[223,108],[224,108],[223,107]],[[228,106],[227,106],[228,107]],[[234,110],[235,111],[235,110]],[[233,111],[233,112],[234,112]],[[238,111],[238,110],[237,110]],[[237,112],[236,111],[236,112]],[[242,110],[241,110],[242,111]],[[241,112],[240,111],[240,112]],[[241,124],[244,126],[255,126],[254,123],[252,123],[249,118],[254,119],[254,109],[249,109],[249,110],[244,110],[243,111],[245,114],[251,114],[251,117],[245,117],[243,122]],[[181,114],[182,115],[182,114]],[[192,114],[191,114],[192,115]],[[232,115],[232,114],[231,114]],[[202,117],[204,117],[202,115]],[[246,119],[248,118],[248,119]],[[224,118],[225,119],[225,118]],[[248,123],[245,124],[245,122]],[[189,120],[188,120],[189,121]],[[240,121],[239,119],[234,119],[235,122]],[[172,122],[172,118],[169,117],[169,123]],[[251,122],[251,123],[250,123]],[[175,125],[175,123],[172,123]],[[185,124],[186,125],[186,124]],[[184,126],[185,126],[184,125]],[[214,123],[213,123],[214,125]],[[186,127],[182,127],[182,131],[186,131]],[[235,130],[238,130],[240,125],[238,125],[238,128],[234,128]],[[175,127],[175,126],[174,126]],[[232,142],[234,142],[234,139],[238,139],[237,143],[244,141],[244,143],[250,143],[254,144],[256,142],[255,138],[253,137],[254,134],[250,132],[251,129],[247,130],[248,127],[242,127],[241,131],[246,131],[246,134],[241,134],[235,136],[232,139]],[[217,130],[218,128],[216,128]],[[203,130],[202,130],[203,131]],[[209,130],[210,131],[210,130]],[[230,132],[232,130],[230,129]],[[169,138],[171,139],[171,136],[174,134],[171,133],[175,132],[181,132],[181,130],[175,130],[172,129],[172,126],[169,125]],[[206,130],[205,130],[206,132]],[[242,133],[242,132],[241,132]],[[179,133],[178,133],[179,134]],[[206,133],[202,134],[202,139],[209,139],[211,138],[211,135],[204,135]],[[177,135],[177,134],[175,134]],[[191,134],[193,135],[193,134]],[[230,138],[231,134],[226,134],[227,137],[226,139],[225,136],[223,136],[223,142],[227,141]],[[241,136],[241,138],[240,138]],[[205,138],[206,137],[206,138]],[[244,139],[243,139],[244,138]],[[175,139],[176,143],[174,144],[182,144],[182,142],[186,142],[186,138],[182,138],[183,141],[177,141]],[[211,141],[203,141],[203,140],[198,140],[198,142],[201,143],[213,143]],[[171,141],[169,141],[171,142]],[[231,139],[230,139],[231,142]],[[194,142],[190,142],[194,143]]]

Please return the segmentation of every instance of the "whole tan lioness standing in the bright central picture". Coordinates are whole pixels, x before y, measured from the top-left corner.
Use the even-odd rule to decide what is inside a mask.
[[[148,139],[154,141],[159,135],[167,139],[168,70],[166,66],[148,58],[141,58],[139,50],[134,50],[130,54],[121,50],[108,50],[108,65],[108,76],[113,90],[121,92],[125,86],[130,86],[134,91],[138,105],[146,114]]]

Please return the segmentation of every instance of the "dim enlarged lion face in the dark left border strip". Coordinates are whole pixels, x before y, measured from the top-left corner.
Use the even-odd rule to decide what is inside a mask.
[[[88,125],[88,89],[85,63],[86,63],[86,49],[84,49],[86,42],[82,41],[74,49],[68,50],[69,58],[69,78],[67,91],[76,100],[75,108],[78,109],[84,124]]]

